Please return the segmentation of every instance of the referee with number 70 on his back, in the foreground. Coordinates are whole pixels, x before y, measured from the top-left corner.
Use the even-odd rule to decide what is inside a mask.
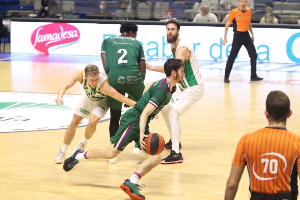
[[[247,165],[250,200],[296,200],[300,176],[300,137],[286,130],[292,115],[289,98],[271,91],[266,100],[268,127],[244,135],[238,142],[227,181],[225,200],[232,200]]]

